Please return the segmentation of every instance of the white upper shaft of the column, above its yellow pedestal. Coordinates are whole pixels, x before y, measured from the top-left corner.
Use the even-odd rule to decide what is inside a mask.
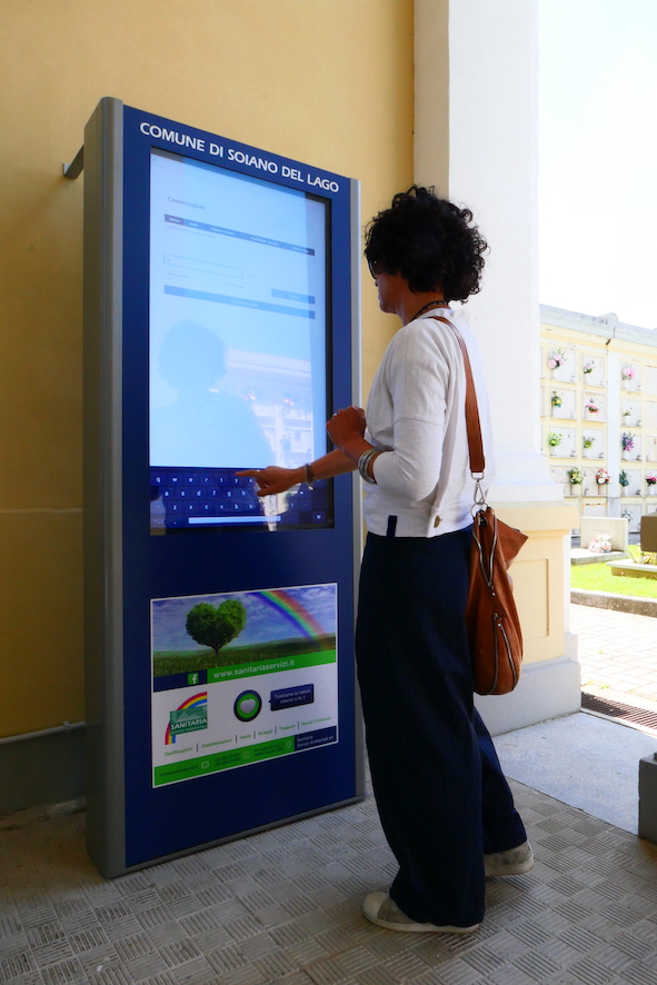
[[[537,3],[416,0],[415,9],[415,180],[468,206],[490,245],[482,291],[464,306],[487,369],[490,498],[559,500],[540,447]]]

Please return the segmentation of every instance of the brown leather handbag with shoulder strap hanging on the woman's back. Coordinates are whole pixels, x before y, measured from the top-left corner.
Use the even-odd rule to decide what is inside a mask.
[[[436,320],[444,321],[454,331],[466,369],[466,426],[470,472],[475,479],[466,628],[472,660],[474,688],[480,695],[504,695],[514,690],[518,684],[522,661],[522,633],[514,601],[514,586],[507,569],[527,537],[498,519],[486,503],[481,489],[486,459],[468,350],[461,334],[451,321],[441,317],[436,317]]]

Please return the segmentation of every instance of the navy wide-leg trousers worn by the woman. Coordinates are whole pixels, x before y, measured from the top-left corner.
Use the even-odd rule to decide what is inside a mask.
[[[399,863],[390,895],[420,923],[484,916],[484,854],[526,839],[474,707],[465,629],[470,528],[368,535],[356,655],[381,824]]]

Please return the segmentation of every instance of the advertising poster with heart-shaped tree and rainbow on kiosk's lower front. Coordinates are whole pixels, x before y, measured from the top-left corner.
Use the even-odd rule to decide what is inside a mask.
[[[337,585],[151,600],[153,786],[338,742]]]

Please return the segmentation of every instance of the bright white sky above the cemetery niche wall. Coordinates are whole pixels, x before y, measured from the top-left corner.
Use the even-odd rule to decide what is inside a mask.
[[[539,299],[657,327],[657,0],[539,0]]]

